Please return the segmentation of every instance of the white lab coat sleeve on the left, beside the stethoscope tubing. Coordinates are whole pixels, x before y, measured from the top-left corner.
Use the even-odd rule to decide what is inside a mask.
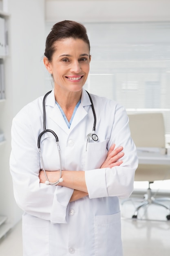
[[[40,127],[40,120],[37,120],[35,127]],[[11,135],[10,171],[18,206],[33,216],[55,223],[66,223],[67,206],[73,189],[40,184],[37,137],[26,112],[22,111],[13,119]]]

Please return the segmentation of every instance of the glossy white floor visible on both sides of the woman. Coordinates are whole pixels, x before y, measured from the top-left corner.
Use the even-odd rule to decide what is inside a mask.
[[[134,220],[131,216],[135,205],[121,205],[124,256],[170,256],[170,220],[166,220],[166,209],[150,205],[141,209],[139,219]],[[0,256],[22,256],[21,222],[0,240]]]

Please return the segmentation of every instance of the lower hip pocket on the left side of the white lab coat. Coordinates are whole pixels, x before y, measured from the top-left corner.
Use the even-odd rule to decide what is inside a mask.
[[[49,221],[24,213],[22,239],[23,256],[49,256]]]

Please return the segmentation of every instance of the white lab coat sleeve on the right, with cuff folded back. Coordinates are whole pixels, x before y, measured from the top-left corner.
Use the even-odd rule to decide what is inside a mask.
[[[123,163],[113,168],[94,168],[85,171],[89,198],[108,196],[128,198],[133,191],[135,170],[138,166],[137,150],[130,137],[126,110],[117,105],[114,115],[108,149],[113,143],[116,147],[123,146]]]

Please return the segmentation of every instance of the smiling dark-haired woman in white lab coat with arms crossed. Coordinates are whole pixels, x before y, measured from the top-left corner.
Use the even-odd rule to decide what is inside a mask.
[[[53,132],[43,132],[43,97],[13,119],[10,169],[24,210],[23,255],[122,256],[119,197],[132,193],[138,164],[126,111],[84,90],[91,55],[82,24],[56,23],[44,55],[54,81],[44,130],[56,133],[60,148]]]

